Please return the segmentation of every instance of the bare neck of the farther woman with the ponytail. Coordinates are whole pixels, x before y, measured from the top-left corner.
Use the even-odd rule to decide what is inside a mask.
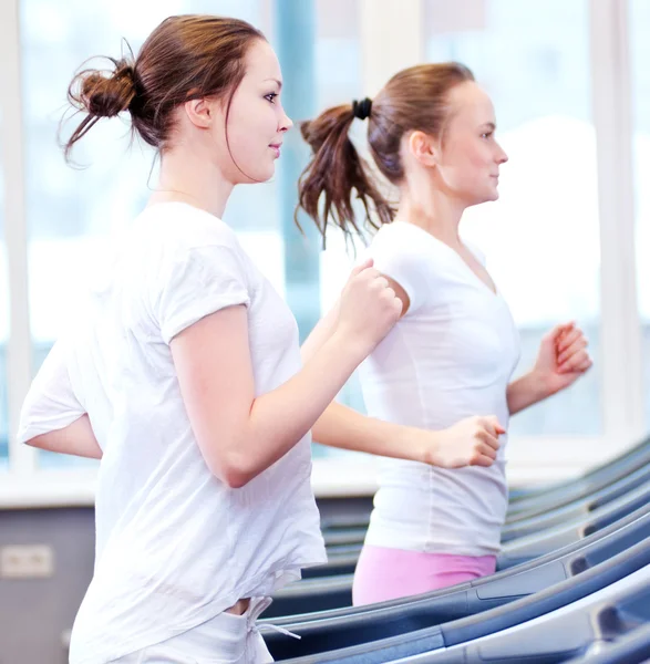
[[[464,205],[430,181],[417,187],[406,184],[401,189],[398,219],[419,226],[450,247],[460,248],[458,227],[464,210]]]

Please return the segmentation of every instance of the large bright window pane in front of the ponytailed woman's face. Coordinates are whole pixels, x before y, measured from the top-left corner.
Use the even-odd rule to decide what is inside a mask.
[[[576,320],[599,345],[596,138],[590,113],[586,0],[425,0],[427,60],[468,65],[491,94],[509,156],[501,199],[468,210],[464,231],[487,255],[522,334],[518,372],[541,335]],[[597,435],[592,370],[570,390],[514,417],[518,435]]]

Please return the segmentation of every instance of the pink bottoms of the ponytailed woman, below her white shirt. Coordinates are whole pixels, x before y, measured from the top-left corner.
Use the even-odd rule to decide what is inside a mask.
[[[364,546],[357,563],[354,606],[422,594],[496,570],[495,556],[450,556]]]

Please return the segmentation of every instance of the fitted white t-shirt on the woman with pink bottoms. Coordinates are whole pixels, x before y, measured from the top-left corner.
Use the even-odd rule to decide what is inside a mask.
[[[506,390],[519,339],[501,293],[451,247],[404,221],[382,227],[369,252],[411,300],[361,366],[369,414],[425,429],[494,414],[507,427]],[[447,470],[382,459],[367,543],[456,556],[498,552],[507,507],[507,436],[499,439],[489,468]]]

